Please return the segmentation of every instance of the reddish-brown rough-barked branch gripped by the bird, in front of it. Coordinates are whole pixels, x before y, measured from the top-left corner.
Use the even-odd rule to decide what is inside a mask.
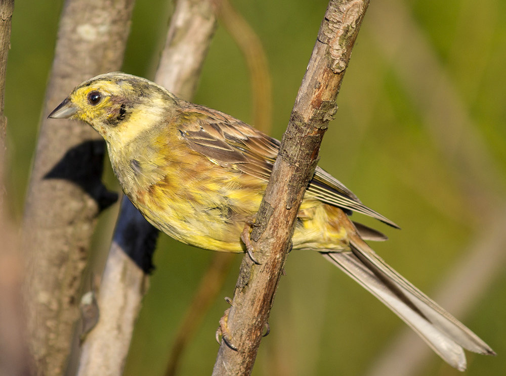
[[[251,241],[260,265],[243,259],[213,375],[248,375],[255,362],[302,197],[314,173],[328,121],[368,1],[331,0],[304,76]]]

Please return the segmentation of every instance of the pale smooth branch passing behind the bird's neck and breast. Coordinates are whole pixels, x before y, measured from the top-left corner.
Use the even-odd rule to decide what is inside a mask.
[[[215,28],[212,0],[179,0],[155,81],[190,99]],[[124,197],[97,297],[100,319],[82,345],[77,375],[122,374],[157,235]]]

